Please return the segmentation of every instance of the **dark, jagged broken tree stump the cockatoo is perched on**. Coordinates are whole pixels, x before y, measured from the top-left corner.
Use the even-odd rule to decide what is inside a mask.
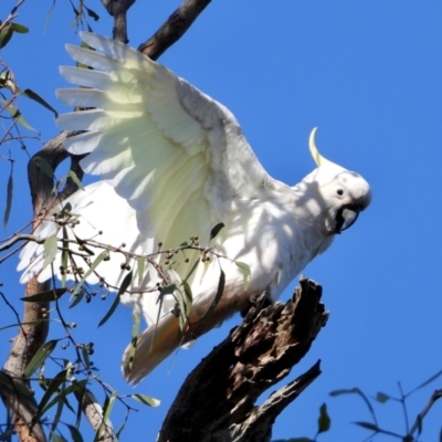
[[[272,424],[319,373],[319,361],[261,407],[257,398],[286,377],[326,324],[322,287],[301,278],[293,298],[244,322],[189,375],[162,424],[158,442],[269,441]]]

